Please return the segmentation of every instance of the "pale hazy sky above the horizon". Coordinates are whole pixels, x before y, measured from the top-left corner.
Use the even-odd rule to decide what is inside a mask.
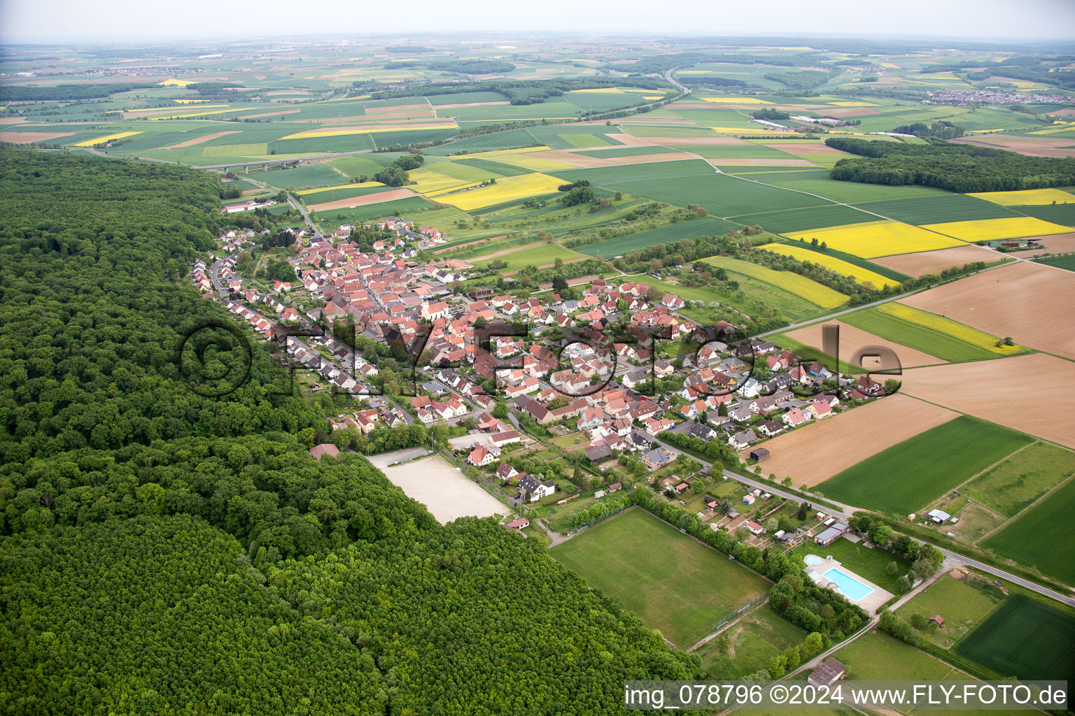
[[[512,32],[1075,38],[1075,0],[0,0],[0,38],[37,42]]]

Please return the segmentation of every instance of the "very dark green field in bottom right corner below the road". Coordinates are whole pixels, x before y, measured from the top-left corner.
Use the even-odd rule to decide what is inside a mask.
[[[1012,595],[955,651],[1004,677],[1069,680],[1075,674],[1075,614]]]

